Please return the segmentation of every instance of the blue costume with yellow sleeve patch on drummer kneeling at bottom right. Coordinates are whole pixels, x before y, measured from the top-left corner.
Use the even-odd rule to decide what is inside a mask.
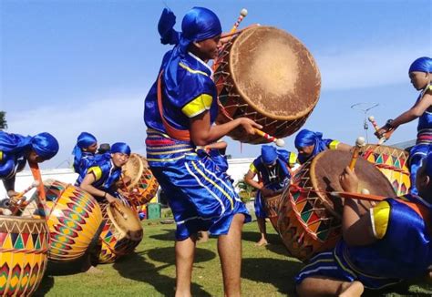
[[[431,210],[431,205],[418,196],[400,198]],[[334,251],[319,253],[311,259],[297,275],[296,282],[324,276],[345,282],[360,281],[366,288],[381,289],[426,275],[432,264],[432,242],[424,218],[395,199],[381,201],[370,210],[370,215],[375,243],[348,246],[341,240]]]

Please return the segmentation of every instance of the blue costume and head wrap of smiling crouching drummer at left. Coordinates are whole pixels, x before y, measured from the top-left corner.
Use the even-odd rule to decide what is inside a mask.
[[[112,145],[111,153],[105,153],[103,155],[98,155],[88,164],[87,169],[85,170],[86,175],[88,173],[93,173],[95,176],[95,181],[92,183],[92,186],[101,189],[103,191],[108,192],[114,197],[118,197],[118,192],[115,189],[115,184],[120,179],[121,176],[121,168],[116,167],[111,159],[111,154],[114,153],[123,153],[130,155],[130,148],[126,143],[117,142]],[[84,176],[79,176],[76,182],[76,186],[80,186],[84,178]],[[103,201],[104,199],[101,197],[95,197],[96,200]]]

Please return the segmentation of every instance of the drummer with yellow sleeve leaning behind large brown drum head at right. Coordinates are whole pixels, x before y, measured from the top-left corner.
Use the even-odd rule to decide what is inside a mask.
[[[303,164],[327,148],[350,151],[352,147],[334,139],[323,139],[321,132],[303,129],[295,137],[295,148],[299,152],[299,162]]]

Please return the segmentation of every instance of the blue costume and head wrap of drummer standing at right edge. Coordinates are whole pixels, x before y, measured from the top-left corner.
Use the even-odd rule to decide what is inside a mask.
[[[432,73],[432,59],[430,57],[420,57],[413,62],[411,67],[409,67],[408,72],[421,71]],[[420,101],[426,92],[431,92],[432,86],[427,85],[417,98],[417,102]],[[429,107],[423,115],[418,118],[417,126],[417,142],[416,146],[411,148],[409,152],[409,166],[410,166],[410,179],[411,179],[411,189],[412,194],[417,194],[416,189],[416,176],[417,169],[420,168],[421,162],[426,158],[427,150],[432,145],[432,107]]]

